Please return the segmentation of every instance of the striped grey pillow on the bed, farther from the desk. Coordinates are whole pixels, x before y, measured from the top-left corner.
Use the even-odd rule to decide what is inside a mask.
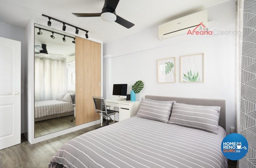
[[[173,103],[168,123],[218,134],[219,106]]]

